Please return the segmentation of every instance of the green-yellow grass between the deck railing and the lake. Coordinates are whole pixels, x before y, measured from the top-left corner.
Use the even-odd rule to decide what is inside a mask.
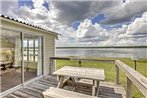
[[[134,68],[134,61],[129,58],[99,58],[99,59],[119,59],[130,67]],[[77,61],[65,61],[65,60],[56,60],[56,67],[60,69],[63,66],[79,66]],[[105,70],[106,81],[115,82],[115,65],[112,63],[104,63],[104,62],[82,62],[82,67],[90,67],[90,68],[101,68]],[[137,61],[137,71],[142,75],[147,77],[147,60],[142,59]],[[120,71],[120,82],[125,88],[126,86],[126,76],[123,72]],[[144,98],[142,93],[133,86],[133,98]]]

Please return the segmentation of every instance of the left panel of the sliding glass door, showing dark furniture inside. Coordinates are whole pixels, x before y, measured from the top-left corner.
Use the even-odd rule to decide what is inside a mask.
[[[22,83],[21,33],[1,29],[0,36],[0,91]]]

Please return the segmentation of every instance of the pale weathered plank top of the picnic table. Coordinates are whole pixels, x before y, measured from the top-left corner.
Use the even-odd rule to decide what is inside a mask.
[[[100,81],[103,81],[105,79],[104,69],[96,68],[64,66],[61,69],[55,71],[53,74]]]

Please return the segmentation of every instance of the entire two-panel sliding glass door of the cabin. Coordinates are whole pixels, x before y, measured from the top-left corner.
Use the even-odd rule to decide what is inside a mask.
[[[0,93],[42,75],[42,37],[1,29]]]

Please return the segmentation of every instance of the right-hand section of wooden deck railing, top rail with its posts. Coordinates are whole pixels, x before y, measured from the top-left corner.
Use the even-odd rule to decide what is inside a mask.
[[[135,71],[133,68],[129,67],[120,60],[115,61],[116,65],[116,83],[119,83],[119,69],[125,73],[127,76],[127,87],[126,87],[126,97],[132,98],[131,87],[134,84],[140,92],[147,98],[147,78]]]

